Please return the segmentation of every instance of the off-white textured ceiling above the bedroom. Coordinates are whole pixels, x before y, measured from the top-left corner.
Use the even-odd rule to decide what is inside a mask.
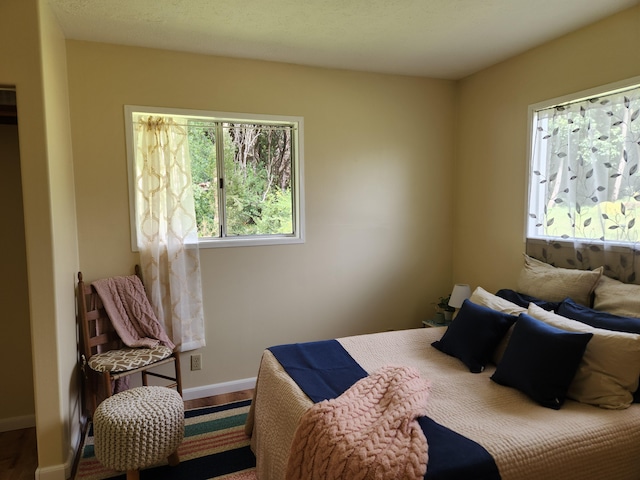
[[[65,36],[458,79],[639,0],[49,0]]]

